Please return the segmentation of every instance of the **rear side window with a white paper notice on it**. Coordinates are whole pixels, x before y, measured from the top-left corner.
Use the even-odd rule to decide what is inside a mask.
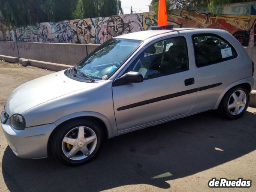
[[[203,67],[237,57],[233,46],[220,36],[200,34],[192,36],[196,66]]]

